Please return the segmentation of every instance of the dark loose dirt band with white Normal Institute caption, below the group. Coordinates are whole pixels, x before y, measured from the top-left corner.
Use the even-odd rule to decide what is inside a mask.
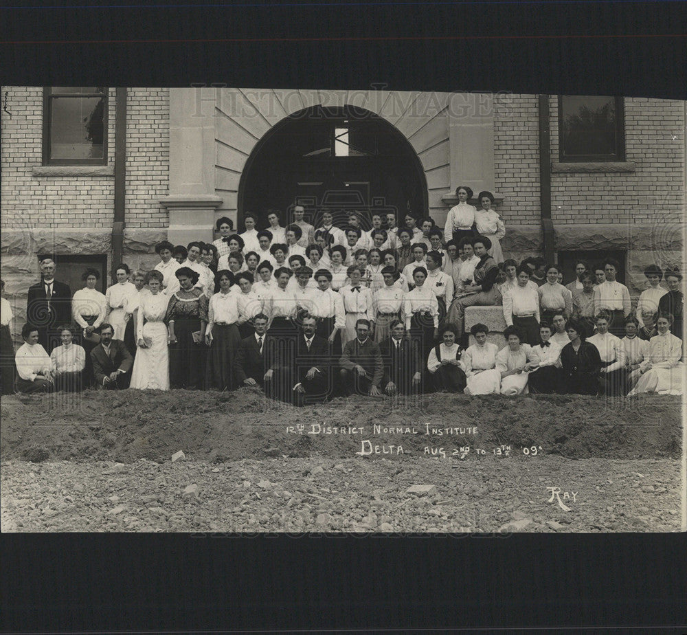
[[[403,454],[442,449],[454,458],[507,452],[502,446],[513,455],[534,447],[567,458],[677,458],[682,452],[682,399],[660,395],[432,394],[410,403],[353,397],[297,409],[247,388],[126,390],[3,397],[0,418],[2,458],[34,462],[162,462],[179,449],[210,462],[351,457],[363,450],[395,458],[398,445]]]

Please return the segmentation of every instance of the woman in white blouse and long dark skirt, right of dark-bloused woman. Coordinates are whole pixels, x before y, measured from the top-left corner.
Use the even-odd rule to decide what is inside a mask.
[[[217,272],[219,291],[210,298],[205,343],[207,354],[205,386],[217,390],[234,390],[234,357],[240,344],[238,333],[238,293],[232,293],[234,275],[228,269]]]

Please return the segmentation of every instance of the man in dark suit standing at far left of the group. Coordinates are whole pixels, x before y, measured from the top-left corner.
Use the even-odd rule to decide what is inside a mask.
[[[38,344],[48,355],[60,346],[60,329],[71,324],[71,289],[55,280],[55,262],[41,260],[41,282],[31,285],[26,300],[26,320],[38,327]]]

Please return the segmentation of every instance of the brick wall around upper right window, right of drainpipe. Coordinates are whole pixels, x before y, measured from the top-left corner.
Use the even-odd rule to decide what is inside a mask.
[[[554,161],[559,157],[558,105],[558,97],[552,96]],[[684,113],[684,102],[625,98],[625,156],[635,163],[635,171],[554,173],[554,223],[684,222]]]

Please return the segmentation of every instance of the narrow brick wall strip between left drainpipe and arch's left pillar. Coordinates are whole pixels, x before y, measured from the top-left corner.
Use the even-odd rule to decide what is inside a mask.
[[[126,227],[167,227],[169,89],[128,89],[126,110]]]

